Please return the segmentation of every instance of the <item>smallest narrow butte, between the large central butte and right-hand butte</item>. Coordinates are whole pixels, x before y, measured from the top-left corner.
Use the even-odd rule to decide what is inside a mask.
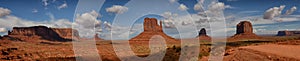
[[[211,37],[208,36],[206,34],[206,30],[205,28],[202,28],[200,31],[199,31],[199,35],[197,36],[199,38],[199,40],[205,40],[205,41],[211,41]]]

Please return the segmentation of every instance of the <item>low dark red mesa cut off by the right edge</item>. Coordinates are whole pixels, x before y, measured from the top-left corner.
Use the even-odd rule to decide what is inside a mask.
[[[300,31],[278,31],[277,36],[295,36],[300,35]]]

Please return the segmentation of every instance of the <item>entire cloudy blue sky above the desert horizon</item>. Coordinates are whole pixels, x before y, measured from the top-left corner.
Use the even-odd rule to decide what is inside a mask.
[[[82,37],[99,33],[104,39],[128,40],[143,31],[143,18],[150,17],[162,21],[164,32],[174,38],[194,38],[201,28],[206,28],[208,35],[232,36],[240,21],[250,21],[258,35],[275,35],[281,30],[300,30],[299,3],[299,0],[0,0],[0,34],[7,34],[12,27],[43,25],[73,27]],[[220,13],[220,17],[209,17]],[[225,22],[225,28],[214,29],[223,26],[214,22]],[[224,30],[225,33],[211,33]]]

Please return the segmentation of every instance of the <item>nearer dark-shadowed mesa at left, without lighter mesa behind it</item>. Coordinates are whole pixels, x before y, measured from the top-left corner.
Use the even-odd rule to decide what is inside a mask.
[[[33,27],[13,27],[13,30],[8,33],[9,36],[19,38],[23,41],[32,40],[51,40],[51,41],[63,41],[64,38],[60,37],[52,29],[46,26],[33,26]]]

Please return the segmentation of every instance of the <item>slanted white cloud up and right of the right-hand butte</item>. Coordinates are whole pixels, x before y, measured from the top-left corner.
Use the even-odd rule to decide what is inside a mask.
[[[280,7],[273,7],[268,9],[264,14],[264,19],[273,19],[276,16],[281,15],[282,10],[285,8],[285,5],[281,5]]]

